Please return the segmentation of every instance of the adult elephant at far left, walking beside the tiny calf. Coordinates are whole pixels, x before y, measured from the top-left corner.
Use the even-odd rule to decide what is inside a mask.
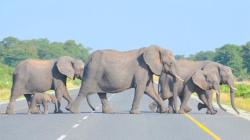
[[[84,63],[81,60],[69,56],[57,60],[27,59],[20,62],[13,73],[13,85],[6,113],[15,112],[15,101],[21,95],[25,96],[29,106],[32,94],[48,90],[55,91],[58,100],[56,113],[61,113],[61,98],[64,97],[68,104],[72,102],[66,87],[66,79],[82,79],[83,69]]]

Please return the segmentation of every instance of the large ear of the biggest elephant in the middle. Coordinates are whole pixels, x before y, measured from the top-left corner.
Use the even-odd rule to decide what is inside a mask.
[[[161,48],[156,45],[151,45],[145,48],[143,58],[145,63],[155,75],[160,75],[162,72],[162,63],[160,57]]]

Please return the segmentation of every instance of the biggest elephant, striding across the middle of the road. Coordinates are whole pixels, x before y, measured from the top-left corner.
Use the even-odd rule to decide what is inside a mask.
[[[96,51],[86,63],[79,94],[67,109],[79,113],[83,98],[98,93],[102,102],[102,112],[111,113],[106,93],[118,93],[135,88],[131,114],[140,113],[139,103],[143,93],[159,104],[161,112],[166,112],[162,99],[155,93],[152,75],[164,72],[179,78],[177,69],[173,54],[156,45],[127,52]]]

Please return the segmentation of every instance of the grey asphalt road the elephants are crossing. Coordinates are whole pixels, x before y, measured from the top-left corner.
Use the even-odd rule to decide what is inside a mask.
[[[72,90],[72,96],[78,90]],[[17,102],[16,115],[0,115],[0,140],[250,140],[250,121],[218,109],[216,115],[197,111],[198,101],[189,103],[189,115],[152,113],[148,109],[151,99],[141,101],[141,114],[131,115],[134,90],[109,97],[114,114],[101,113],[97,95],[91,101],[98,108],[91,112],[86,100],[80,114],[27,115],[25,101]],[[64,102],[65,106],[66,103]],[[6,104],[0,105],[4,111]],[[53,105],[49,106],[53,112]]]

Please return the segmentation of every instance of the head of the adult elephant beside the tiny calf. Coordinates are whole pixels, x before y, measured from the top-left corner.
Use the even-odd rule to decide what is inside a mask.
[[[56,66],[61,74],[71,79],[82,79],[84,63],[81,60],[62,56],[57,60]]]

